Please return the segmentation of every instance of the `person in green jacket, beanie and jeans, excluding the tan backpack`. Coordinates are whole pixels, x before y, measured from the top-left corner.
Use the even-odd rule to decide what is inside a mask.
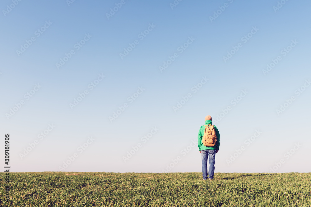
[[[212,125],[212,118],[211,116],[205,117],[205,125],[211,124]],[[219,151],[219,131],[217,127],[214,125],[214,129],[216,131],[216,145],[215,146],[204,146],[202,137],[204,136],[205,126],[201,126],[199,133],[197,135],[197,143],[199,146],[199,151],[202,155],[202,173],[203,173],[203,180],[207,180],[207,158],[209,159],[210,167],[208,169],[208,179],[214,179],[214,171],[215,171],[215,153]]]

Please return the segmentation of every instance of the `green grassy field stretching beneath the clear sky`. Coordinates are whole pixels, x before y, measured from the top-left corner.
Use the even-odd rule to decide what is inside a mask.
[[[311,173],[10,173],[0,206],[311,206]]]

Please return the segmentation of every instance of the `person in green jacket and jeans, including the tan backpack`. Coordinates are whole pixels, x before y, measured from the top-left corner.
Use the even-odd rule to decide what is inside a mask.
[[[203,180],[213,180],[215,171],[215,154],[219,151],[219,131],[215,125],[212,124],[211,116],[205,117],[204,125],[200,127],[197,135],[197,143],[199,152],[202,156],[202,174]],[[207,173],[207,159],[210,167]],[[207,177],[208,176],[208,177]]]

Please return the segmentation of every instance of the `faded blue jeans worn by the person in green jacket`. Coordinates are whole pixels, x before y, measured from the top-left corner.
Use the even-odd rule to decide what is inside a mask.
[[[201,150],[203,179],[207,179],[207,158],[210,160],[208,178],[214,179],[216,150]]]

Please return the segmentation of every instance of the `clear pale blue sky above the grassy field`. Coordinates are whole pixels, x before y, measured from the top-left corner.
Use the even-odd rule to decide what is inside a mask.
[[[206,115],[216,172],[310,172],[310,6],[1,1],[11,172],[202,172]]]

